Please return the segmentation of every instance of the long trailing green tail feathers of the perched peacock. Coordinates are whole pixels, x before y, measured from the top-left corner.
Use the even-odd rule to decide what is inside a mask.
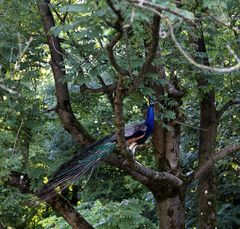
[[[74,155],[57,169],[43,188],[37,191],[37,196],[42,200],[54,197],[58,192],[94,169],[99,161],[113,151],[115,146],[115,142],[103,139],[87,148],[86,151]]]

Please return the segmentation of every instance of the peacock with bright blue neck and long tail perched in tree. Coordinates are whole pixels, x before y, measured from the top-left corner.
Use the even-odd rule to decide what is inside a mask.
[[[154,128],[154,104],[149,99],[147,117],[144,122],[130,124],[124,128],[128,149],[134,155],[138,145],[143,144],[152,134]],[[49,179],[49,182],[37,191],[37,196],[46,200],[57,192],[64,190],[86,173],[92,171],[103,161],[117,145],[117,135],[111,134],[93,143],[85,150],[75,154],[62,164]]]

